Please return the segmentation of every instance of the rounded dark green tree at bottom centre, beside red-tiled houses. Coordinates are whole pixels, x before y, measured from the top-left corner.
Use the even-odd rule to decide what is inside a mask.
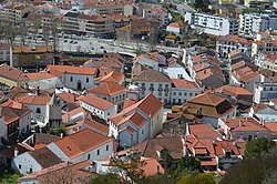
[[[178,162],[177,168],[175,171],[175,175],[185,175],[189,173],[198,173],[202,172],[199,161],[195,160],[193,156],[184,156]]]

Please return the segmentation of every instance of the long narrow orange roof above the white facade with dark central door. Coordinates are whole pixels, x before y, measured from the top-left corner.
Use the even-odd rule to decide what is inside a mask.
[[[62,73],[71,74],[83,74],[83,75],[95,75],[98,72],[96,68],[84,68],[84,67],[72,67],[72,65],[48,65],[48,71],[60,76]]]

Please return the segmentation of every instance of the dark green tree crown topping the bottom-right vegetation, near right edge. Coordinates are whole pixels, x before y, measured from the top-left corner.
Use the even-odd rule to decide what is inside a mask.
[[[246,144],[245,157],[255,159],[258,157],[263,152],[268,153],[268,150],[275,146],[275,142],[267,140],[266,137],[258,137],[256,140],[249,141]]]

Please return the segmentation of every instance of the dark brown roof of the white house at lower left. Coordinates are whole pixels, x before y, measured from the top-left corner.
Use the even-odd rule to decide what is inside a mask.
[[[43,167],[50,167],[55,164],[61,163],[62,161],[47,146],[31,151],[29,154]]]

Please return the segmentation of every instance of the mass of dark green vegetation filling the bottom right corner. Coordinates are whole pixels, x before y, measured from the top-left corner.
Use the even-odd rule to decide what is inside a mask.
[[[273,141],[256,139],[246,144],[246,160],[230,167],[219,181],[223,184],[277,183],[277,149]]]

